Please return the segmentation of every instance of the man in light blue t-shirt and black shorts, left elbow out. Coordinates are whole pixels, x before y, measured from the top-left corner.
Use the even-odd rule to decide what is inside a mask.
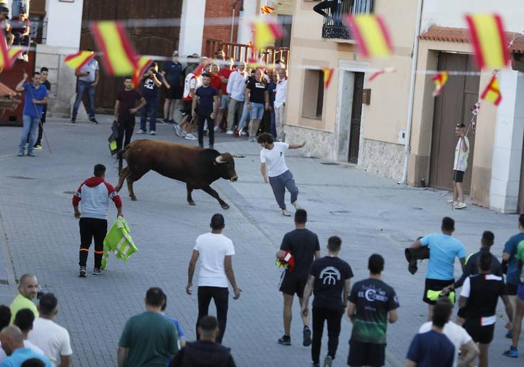
[[[460,259],[463,273],[467,256],[464,245],[451,236],[455,231],[455,220],[445,216],[442,218],[441,229],[441,234],[428,234],[411,245],[411,248],[429,246],[429,263],[422,297],[422,301],[428,304],[428,321],[431,321],[439,292],[455,283],[455,257]]]

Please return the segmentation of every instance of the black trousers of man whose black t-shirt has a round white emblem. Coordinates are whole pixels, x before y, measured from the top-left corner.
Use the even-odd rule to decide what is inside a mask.
[[[313,363],[319,363],[320,347],[322,344],[322,332],[324,332],[324,321],[328,321],[328,355],[335,359],[339,346],[340,322],[344,310],[330,310],[328,308],[313,308],[313,338],[311,343],[311,359]]]

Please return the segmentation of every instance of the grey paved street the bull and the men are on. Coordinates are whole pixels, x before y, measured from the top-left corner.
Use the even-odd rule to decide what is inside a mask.
[[[225,215],[225,235],[236,247],[233,265],[243,290],[237,301],[230,298],[224,344],[232,348],[238,366],[309,366],[310,349],[301,346],[298,307],[292,323],[293,345],[277,344],[283,326],[274,253],[283,234],[293,229],[293,221],[277,212],[270,186],[261,178],[258,144],[218,134],[217,150],[246,156],[235,160],[238,182],[220,180],[213,185],[230,204],[227,211],[202,191],[194,192],[196,206],[189,207],[185,184],[154,172],[135,183],[138,201],[131,202],[124,187],[123,212],[139,252],[127,263],[111,257],[104,276],[78,277],[73,191],[91,176],[96,163],[108,167],[106,180],[113,185],[117,181],[106,140],[109,117],[100,120],[99,126],[48,122],[53,154],[44,147],[36,158],[16,156],[21,129],[0,127],[0,264],[5,270],[0,272],[0,301],[7,303],[14,295],[14,277],[19,279],[25,272],[37,275],[41,288],[59,299],[56,321],[71,333],[75,366],[116,365],[120,332],[131,315],[142,312],[144,294],[151,286],[167,292],[167,314],[180,321],[189,340],[194,339],[196,292],[191,297],[185,294],[187,263],[196,236],[209,230],[209,219],[218,212]],[[176,138],[172,130],[160,124],[154,139],[195,144]],[[452,211],[445,204],[444,191],[402,187],[354,167],[308,158],[300,150],[290,151],[286,160],[300,190],[299,202],[309,213],[308,227],[319,234],[323,254],[328,237],[341,236],[341,258],[353,267],[353,282],[367,276],[369,255],[377,252],[386,259],[384,281],[395,288],[401,304],[399,321],[389,327],[388,366],[404,364],[409,342],[427,314],[421,301],[426,264],[414,276],[409,274],[404,247],[418,236],[438,232],[442,216],[456,220],[456,236],[467,252],[478,250],[482,232],[490,229],[496,236],[493,251],[500,256],[507,238],[517,231],[515,215],[474,206]],[[115,213],[111,207],[111,218]],[[89,256],[91,269],[93,252]],[[501,302],[499,311],[502,316]],[[522,366],[524,337],[518,359],[501,356],[509,346],[503,338],[504,324],[499,319],[496,325],[491,365]],[[346,365],[350,330],[344,317],[335,366]],[[321,360],[326,344],[327,339]]]

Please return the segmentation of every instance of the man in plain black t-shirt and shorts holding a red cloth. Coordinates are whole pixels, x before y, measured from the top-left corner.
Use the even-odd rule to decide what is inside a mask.
[[[284,335],[279,339],[279,344],[284,346],[291,345],[291,308],[293,306],[293,297],[296,293],[299,297],[300,305],[303,305],[303,292],[308,282],[308,275],[313,257],[320,258],[320,245],[317,234],[306,229],[308,214],[304,209],[298,209],[294,213],[294,231],[288,232],[282,239],[277,258],[284,257],[286,252],[294,257],[294,267],[290,266],[282,272],[280,279],[280,291],[284,298]],[[309,328],[309,317],[303,316],[303,346],[311,344],[311,330]]]

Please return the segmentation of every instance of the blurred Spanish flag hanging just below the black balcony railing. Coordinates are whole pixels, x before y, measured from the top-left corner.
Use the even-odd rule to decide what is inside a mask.
[[[357,41],[359,52],[364,57],[389,56],[393,53],[389,31],[378,15],[347,15],[346,23]]]

